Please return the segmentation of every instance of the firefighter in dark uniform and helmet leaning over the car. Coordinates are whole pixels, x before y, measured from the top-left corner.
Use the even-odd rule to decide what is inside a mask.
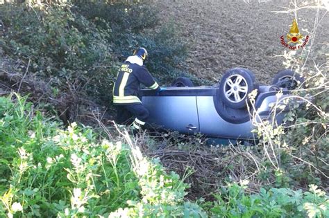
[[[152,75],[143,65],[148,53],[145,48],[137,48],[133,56],[121,65],[117,80],[113,87],[113,103],[117,107],[116,122],[119,125],[126,125],[129,118],[133,116],[133,129],[136,131],[140,127],[144,127],[147,118],[149,118],[149,111],[142,105],[140,98],[137,97],[140,90],[140,84],[144,84],[149,89],[153,89],[155,93],[165,90],[160,88],[159,84],[155,82]]]

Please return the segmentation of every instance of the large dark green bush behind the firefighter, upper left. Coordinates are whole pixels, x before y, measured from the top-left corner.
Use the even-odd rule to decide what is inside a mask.
[[[137,46],[149,50],[146,65],[161,84],[187,74],[186,44],[174,27],[157,26],[157,13],[144,1],[6,3],[0,5],[0,46],[4,55],[30,61],[29,72],[58,92],[87,93],[108,106],[119,61]]]

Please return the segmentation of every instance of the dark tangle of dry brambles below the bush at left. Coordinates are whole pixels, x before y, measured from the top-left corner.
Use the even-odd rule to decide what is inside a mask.
[[[16,92],[28,96],[28,100],[40,107],[45,113],[50,113],[67,125],[74,120],[92,125],[90,111],[100,111],[103,118],[109,118],[104,108],[88,100],[85,93],[78,91],[75,83],[67,81],[67,86],[60,93],[49,82],[35,77],[29,71],[30,62],[14,61],[9,57],[0,56],[0,94]],[[105,113],[105,114],[104,114]]]

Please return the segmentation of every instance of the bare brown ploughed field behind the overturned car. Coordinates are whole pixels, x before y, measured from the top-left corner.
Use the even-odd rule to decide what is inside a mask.
[[[297,1],[298,6],[305,2]],[[280,36],[289,32],[294,12],[275,11],[293,9],[291,1],[161,0],[157,5],[162,22],[175,21],[183,39],[191,45],[186,60],[190,73],[217,82],[226,70],[239,66],[251,69],[258,81],[265,83],[285,69],[285,59],[277,55],[289,51],[280,44]],[[314,39],[306,46],[312,48],[310,64],[314,59],[325,63],[324,53],[329,51],[329,16],[326,10],[319,10],[317,18],[317,12],[302,9],[296,16],[301,34]],[[316,20],[321,23],[314,35]],[[299,49],[296,55],[305,55],[305,51]]]

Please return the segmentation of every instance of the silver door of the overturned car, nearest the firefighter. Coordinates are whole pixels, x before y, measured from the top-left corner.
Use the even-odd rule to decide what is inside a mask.
[[[149,110],[149,122],[182,133],[199,131],[196,96],[177,96],[169,89],[162,96],[143,96],[142,102]]]

